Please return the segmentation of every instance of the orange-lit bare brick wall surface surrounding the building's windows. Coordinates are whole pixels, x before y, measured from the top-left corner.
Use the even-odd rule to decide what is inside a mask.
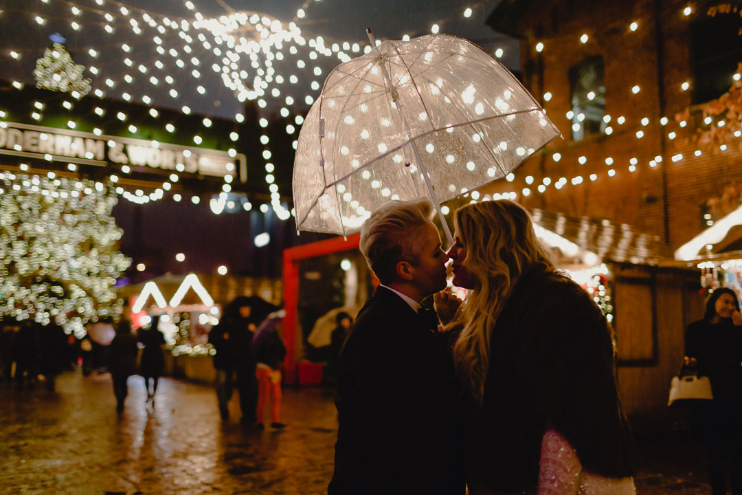
[[[718,154],[704,151],[695,157],[697,146],[686,139],[695,134],[700,118],[686,128],[674,120],[692,98],[692,90],[680,88],[684,81],[693,83],[690,22],[705,16],[713,4],[695,2],[692,14],[684,16],[686,1],[531,2],[519,25],[525,36],[521,44],[523,79],[533,96],[541,99],[564,139],[555,140],[544,153],[521,165],[512,183],[499,180],[482,192],[516,191],[519,202],[529,208],[628,223],[637,230],[666,237],[672,249],[700,233],[704,228],[701,204],[720,196],[726,184],[742,182],[738,143]],[[629,24],[634,21],[639,27],[631,32]],[[585,44],[580,42],[583,33],[589,37]],[[545,45],[542,53],[536,53],[536,42]],[[571,110],[568,71],[594,55],[604,60],[605,114],[611,116],[613,134],[574,142],[571,121],[566,117]],[[634,85],[641,88],[638,94],[631,93]],[[552,98],[544,102],[547,91]],[[617,124],[620,116],[626,118],[623,125]],[[644,117],[649,125],[641,124]],[[667,125],[660,124],[661,117],[669,119]],[[644,137],[637,139],[637,131],[643,131]],[[668,137],[672,131],[677,134],[674,140]],[[558,163],[552,159],[554,152],[562,156]],[[673,162],[675,154],[683,154],[683,160]],[[657,155],[663,160],[651,167],[650,160]],[[578,163],[582,156],[587,158],[584,165]],[[613,159],[613,165],[605,164],[607,157]],[[628,170],[632,157],[638,160],[633,172]],[[611,168],[613,177],[608,176]],[[597,174],[597,180],[591,181],[590,174]],[[530,186],[525,182],[528,175],[534,177]],[[577,176],[582,176],[583,182],[573,186],[570,181]],[[550,177],[552,183],[539,193],[536,186],[542,177]],[[554,188],[559,177],[568,180],[561,190]],[[528,197],[522,193],[526,187],[531,190]]]

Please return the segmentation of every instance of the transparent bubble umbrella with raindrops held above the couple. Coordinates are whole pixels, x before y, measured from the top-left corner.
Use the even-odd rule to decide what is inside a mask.
[[[372,46],[375,46],[369,30]],[[439,204],[509,174],[559,131],[465,39],[385,41],[329,73],[299,134],[298,230],[349,235],[390,200]]]

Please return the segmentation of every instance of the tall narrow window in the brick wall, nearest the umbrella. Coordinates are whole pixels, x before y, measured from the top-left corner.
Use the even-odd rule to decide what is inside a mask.
[[[605,130],[603,57],[585,59],[569,69],[572,94],[572,139],[581,141]]]

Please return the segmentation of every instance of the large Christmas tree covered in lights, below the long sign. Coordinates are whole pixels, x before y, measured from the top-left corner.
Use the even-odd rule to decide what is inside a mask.
[[[52,321],[81,335],[120,312],[116,196],[91,180],[0,173],[0,320]]]

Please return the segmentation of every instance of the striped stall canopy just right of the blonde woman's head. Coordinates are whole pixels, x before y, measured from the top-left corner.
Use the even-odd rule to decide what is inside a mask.
[[[654,265],[672,258],[657,235],[637,232],[626,223],[533,209],[536,235],[556,246],[564,258],[580,258],[587,265],[602,261]]]

